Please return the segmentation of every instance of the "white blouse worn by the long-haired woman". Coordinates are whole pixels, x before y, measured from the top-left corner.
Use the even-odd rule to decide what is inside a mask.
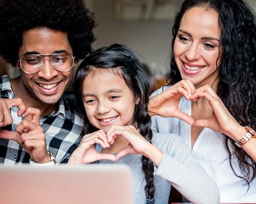
[[[153,93],[159,94],[168,86],[163,86]],[[191,101],[182,97],[179,109],[191,116]],[[179,135],[191,149],[191,126],[178,118],[152,117],[152,130],[158,133]],[[248,185],[234,175],[229,165],[228,153],[224,145],[224,135],[204,128],[196,140],[192,151],[211,178],[219,187],[220,202],[256,202],[256,179]],[[233,161],[236,172],[240,172],[237,160]],[[248,191],[247,191],[248,190]]]

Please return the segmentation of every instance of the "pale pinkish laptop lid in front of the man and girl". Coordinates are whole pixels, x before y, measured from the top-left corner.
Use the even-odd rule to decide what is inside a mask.
[[[131,171],[120,164],[0,165],[0,203],[131,204]]]

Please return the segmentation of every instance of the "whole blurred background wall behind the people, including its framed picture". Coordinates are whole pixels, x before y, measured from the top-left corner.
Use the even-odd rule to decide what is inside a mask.
[[[97,38],[93,44],[94,49],[113,43],[125,44],[140,54],[141,60],[152,69],[156,78],[164,78],[168,74],[172,26],[175,13],[182,3],[181,0],[84,1],[95,13],[98,23],[94,30]],[[120,2],[128,4],[120,6]],[[145,9],[142,4],[139,6],[143,2],[150,9]],[[151,7],[152,2],[158,2],[154,6],[155,10]],[[255,0],[246,0],[246,2],[256,11]],[[141,17],[139,14],[143,10]],[[154,11],[153,14],[149,10]],[[0,75],[4,73],[8,73],[11,78],[19,75],[16,68],[10,67],[0,58]]]

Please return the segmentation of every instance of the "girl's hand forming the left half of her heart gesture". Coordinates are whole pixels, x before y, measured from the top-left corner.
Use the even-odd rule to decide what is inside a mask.
[[[89,164],[98,160],[116,161],[114,155],[98,152],[94,147],[95,143],[100,144],[102,148],[110,147],[106,134],[102,130],[84,135],[81,143],[71,155],[68,164]]]

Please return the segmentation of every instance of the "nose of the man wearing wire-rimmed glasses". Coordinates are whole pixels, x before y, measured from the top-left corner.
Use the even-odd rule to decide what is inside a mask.
[[[42,68],[38,71],[38,77],[44,78],[46,80],[51,80],[52,78],[56,77],[56,75],[58,75],[58,71],[52,66],[50,58],[44,58],[44,64],[42,65]]]

